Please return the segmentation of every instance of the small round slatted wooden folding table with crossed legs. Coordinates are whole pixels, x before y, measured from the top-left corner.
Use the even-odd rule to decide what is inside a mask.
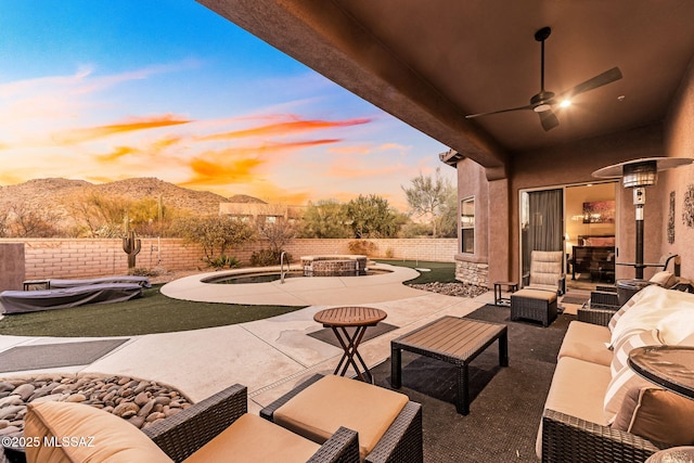
[[[342,372],[339,372],[339,375],[344,376],[347,372],[347,369],[351,364],[357,372],[357,376],[359,377],[359,380],[373,383],[373,376],[371,375],[367,363],[364,363],[364,360],[361,358],[361,355],[359,355],[359,351],[357,349],[364,336],[364,333],[367,332],[367,327],[375,326],[386,317],[388,317],[386,312],[380,309],[374,309],[372,307],[335,307],[333,309],[321,310],[313,316],[313,320],[316,320],[318,323],[322,323],[323,326],[333,330],[333,333],[335,333],[339,345],[345,351],[342,359],[339,359],[337,368],[335,368],[334,374],[337,374],[337,372],[342,368]],[[356,330],[350,334],[347,330],[348,327],[355,327]],[[355,357],[357,357],[357,359],[361,363],[363,373],[359,371],[359,366],[355,361]],[[367,381],[364,374],[369,375],[369,381]]]

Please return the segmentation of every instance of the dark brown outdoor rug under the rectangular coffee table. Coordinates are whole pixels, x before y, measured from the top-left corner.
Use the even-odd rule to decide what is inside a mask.
[[[424,461],[537,462],[535,440],[556,355],[568,323],[561,314],[549,327],[512,322],[510,309],[487,305],[468,318],[509,326],[509,366],[499,366],[493,343],[470,365],[470,414],[455,412],[455,368],[449,363],[402,352],[402,387],[422,403]],[[390,386],[390,361],[373,368],[376,384]]]

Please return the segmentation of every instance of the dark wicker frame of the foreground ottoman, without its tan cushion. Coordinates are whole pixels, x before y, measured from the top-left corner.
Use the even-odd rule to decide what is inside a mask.
[[[298,395],[311,384],[319,381],[323,375],[316,374],[304,383],[290,390],[284,396],[270,403],[260,411],[260,416],[272,421],[273,413],[293,397]],[[376,387],[376,386],[374,386]],[[395,422],[386,430],[373,451],[367,455],[365,462],[423,462],[423,440],[422,440],[422,406],[409,401]]]

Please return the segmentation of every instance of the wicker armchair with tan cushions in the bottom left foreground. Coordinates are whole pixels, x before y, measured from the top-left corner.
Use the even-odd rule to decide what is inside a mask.
[[[268,441],[278,437],[274,432],[270,435],[259,435],[255,430],[258,428],[266,428],[270,425],[266,420],[261,420],[259,416],[249,415],[247,411],[247,389],[242,385],[231,386],[194,406],[167,417],[145,429],[140,432],[138,428],[117,417],[113,414],[103,412],[97,408],[67,402],[51,402],[41,403],[37,406],[36,410],[30,410],[27,413],[27,424],[25,427],[25,438],[39,439],[42,442],[46,441],[61,441],[61,436],[56,434],[60,430],[67,430],[66,435],[83,435],[93,436],[93,449],[88,449],[87,446],[70,448],[69,446],[64,449],[52,448],[37,450],[37,448],[29,449],[27,452],[21,449],[5,449],[5,456],[10,462],[25,462],[29,461],[128,461],[133,462],[159,462],[159,461],[258,461],[258,459],[249,455],[249,451],[253,452],[253,447],[260,447],[259,443],[266,441],[266,443],[278,445],[278,442]],[[40,407],[60,406],[60,414],[53,413],[55,410],[39,409]],[[60,410],[65,408],[66,410]],[[55,409],[55,407],[53,407]],[[35,416],[30,416],[34,414]],[[53,419],[51,422],[50,419]],[[232,424],[241,423],[244,419],[250,420],[252,423],[261,426],[255,427],[254,424],[250,427],[246,427],[241,434],[242,437],[233,436],[233,432],[242,430],[239,427],[229,429]],[[34,420],[34,423],[29,423],[29,420]],[[38,424],[37,424],[38,421]],[[73,423],[66,424],[72,421]],[[246,421],[246,423],[248,423]],[[68,427],[66,427],[68,426]],[[246,426],[244,424],[244,426]],[[31,430],[27,434],[27,428]],[[271,426],[270,429],[280,429],[282,434],[287,435],[291,433],[282,429],[279,426]],[[40,436],[40,430],[47,430],[51,435]],[[39,430],[37,433],[37,430]],[[215,439],[220,436],[224,430],[227,433],[220,439]],[[232,436],[230,438],[230,433]],[[239,434],[239,433],[236,433]],[[112,439],[114,438],[115,439]],[[244,437],[245,436],[245,437]],[[149,439],[147,439],[149,437]],[[293,438],[293,436],[290,436]],[[300,438],[294,436],[294,438]],[[48,439],[48,440],[47,440]],[[233,443],[234,440],[242,440],[241,442]],[[33,440],[27,440],[33,441]],[[38,441],[38,440],[37,440]],[[125,442],[125,445],[124,445]],[[232,442],[231,449],[228,446]],[[282,442],[286,442],[283,440]],[[282,443],[281,442],[281,443]],[[290,443],[293,441],[291,440]],[[154,446],[156,443],[156,446]],[[280,443],[280,445],[281,445]],[[123,446],[121,448],[117,448]],[[279,453],[274,454],[273,461],[280,459],[280,461],[297,461],[295,455],[290,450],[291,446],[282,447],[279,449]],[[309,462],[343,462],[343,463],[358,463],[359,462],[359,447],[357,433],[345,427],[340,427],[325,443],[317,446],[310,442],[309,452],[313,452],[313,447],[318,447],[318,450],[312,453],[312,456],[308,459],[300,459],[299,461]],[[157,449],[158,448],[158,449]],[[291,447],[295,449],[295,447]],[[160,450],[159,450],[160,449]],[[210,451],[205,452],[206,449]],[[236,454],[233,449],[242,449],[242,454]],[[65,450],[70,454],[59,455],[55,451]],[[72,453],[73,450],[76,453]],[[162,450],[164,452],[162,452]],[[202,450],[201,452],[197,452]],[[53,453],[41,453],[41,452]],[[85,452],[92,452],[86,454]],[[192,456],[191,456],[192,455]],[[265,453],[267,458],[267,452]],[[310,453],[309,453],[310,455]]]

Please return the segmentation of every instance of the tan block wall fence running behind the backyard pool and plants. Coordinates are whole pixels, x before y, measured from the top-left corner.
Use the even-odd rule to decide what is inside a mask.
[[[201,259],[204,256],[198,245],[183,240],[142,237],[142,250],[137,256],[137,267],[163,268],[167,271],[200,269],[210,271]],[[293,262],[301,256],[351,254],[349,243],[354,240],[292,240],[285,249]],[[455,239],[393,239],[368,240],[375,245],[370,257],[389,257],[407,260],[430,260],[452,262],[458,249]],[[120,239],[0,239],[2,243],[24,243],[25,280],[80,279],[125,274],[128,271],[127,255]],[[262,241],[246,244],[227,252],[244,265],[250,255],[267,248]]]

